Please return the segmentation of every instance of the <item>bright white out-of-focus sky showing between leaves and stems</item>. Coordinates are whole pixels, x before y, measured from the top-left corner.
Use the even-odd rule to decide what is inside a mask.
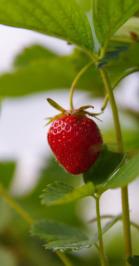
[[[12,28],[0,25],[0,73],[8,71],[11,68],[14,57],[22,51],[23,48],[29,47],[31,44],[41,44],[59,55],[69,54],[73,47],[68,45],[66,41],[59,40],[50,36],[24,30],[20,28]],[[116,90],[116,98],[119,105],[138,107],[137,89],[139,78],[137,73],[131,81],[131,77],[124,79],[122,90],[120,94]],[[79,92],[79,91],[78,91]],[[43,163],[43,158],[50,155],[50,148],[47,144],[47,131],[49,126],[43,127],[46,123],[45,117],[55,115],[55,110],[51,107],[46,97],[52,98],[62,105],[64,108],[69,108],[69,92],[66,90],[63,93],[63,98],[60,92],[47,91],[39,94],[30,94],[28,96],[19,98],[6,98],[2,102],[1,117],[0,117],[0,160],[17,160],[18,166],[16,170],[16,186],[20,184],[24,192],[32,185],[32,180],[35,180],[38,171]],[[119,96],[120,95],[120,96]],[[133,97],[134,95],[134,97]],[[74,105],[79,107],[82,105],[93,105],[94,112],[100,112],[102,101],[93,101],[89,98],[89,94],[82,92],[81,95],[74,93]],[[107,123],[112,122],[112,115],[110,116],[110,106],[108,105],[104,114],[100,119],[103,120],[95,122],[101,130],[107,126]],[[122,122],[125,123],[124,119]],[[20,178],[19,178],[20,177]],[[130,209],[132,210],[132,217],[138,214],[138,180],[132,182],[129,188]],[[111,198],[111,200],[109,200]],[[112,200],[113,198],[113,200]],[[121,212],[120,189],[108,190],[104,193],[103,201],[101,203],[102,214],[118,214]],[[90,206],[84,210],[84,217],[90,214],[92,217],[93,210]],[[87,213],[86,213],[87,212]]]

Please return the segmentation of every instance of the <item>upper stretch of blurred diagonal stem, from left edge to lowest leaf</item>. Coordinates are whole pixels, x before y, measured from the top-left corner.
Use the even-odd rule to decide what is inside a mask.
[[[5,200],[20,214],[20,216],[28,222],[30,225],[34,224],[34,221],[25,211],[14,201],[12,198],[6,193],[3,189],[2,185],[0,184],[0,194],[5,198]]]

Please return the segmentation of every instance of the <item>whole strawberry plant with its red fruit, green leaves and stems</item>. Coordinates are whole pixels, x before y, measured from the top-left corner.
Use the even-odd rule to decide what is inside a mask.
[[[0,77],[0,95],[2,98],[19,97],[47,89],[71,87],[69,110],[65,110],[54,100],[47,98],[50,105],[61,112],[55,114],[47,123],[51,123],[47,139],[58,162],[66,169],[66,172],[69,172],[70,177],[78,179],[79,174],[82,174],[84,185],[74,188],[70,182],[67,184],[67,173],[65,169],[60,169],[60,174],[56,174],[55,180],[51,181],[50,179],[50,184],[46,183],[44,179],[44,187],[39,189],[38,193],[41,204],[45,206],[37,207],[38,210],[34,205],[34,209],[30,208],[32,211],[30,215],[8,195],[3,187],[8,188],[10,182],[3,181],[2,178],[0,193],[29,223],[31,234],[43,239],[45,249],[55,251],[66,266],[72,266],[72,259],[70,260],[69,255],[66,255],[65,252],[79,251],[92,246],[95,246],[96,252],[99,252],[99,260],[91,259],[89,262],[86,259],[84,262],[86,265],[92,265],[92,263],[94,265],[101,263],[101,266],[114,265],[109,262],[110,256],[105,255],[103,234],[120,220],[123,222],[125,259],[118,261],[117,265],[139,265],[138,255],[132,254],[128,203],[128,183],[139,174],[138,131],[130,151],[129,143],[123,141],[119,112],[113,93],[124,77],[139,71],[138,13],[134,16],[139,8],[139,2],[137,0],[78,2],[76,0],[1,1],[1,24],[54,36],[77,48],[72,55],[63,57],[56,56],[37,46],[26,49],[16,58],[14,71]],[[101,118],[101,112],[86,111],[86,109],[94,108],[92,105],[73,108],[75,88],[89,90],[91,93],[93,92],[94,97],[103,97],[104,102],[100,106],[103,112],[105,112],[107,102],[110,102],[116,150],[109,147],[110,135],[102,140],[103,132],[100,132],[97,124],[90,118],[98,119],[98,115]],[[138,119],[138,113],[132,112],[130,109],[127,110],[127,113],[131,113],[134,118]],[[132,133],[133,130],[130,135]],[[56,164],[55,162],[51,169],[51,177]],[[0,167],[3,169],[3,166]],[[59,171],[57,170],[57,173]],[[47,172],[48,170],[45,176],[47,176]],[[10,174],[9,180],[11,176],[12,174]],[[115,188],[121,188],[122,214],[114,217],[106,215],[110,221],[102,226],[100,198],[108,189]],[[73,215],[72,212],[69,215],[68,206],[88,196],[95,201],[97,220],[97,231],[90,237],[79,230],[77,221],[73,226],[72,223],[65,220],[66,216],[69,220]],[[35,202],[34,198],[31,198],[30,203],[28,200],[27,210],[29,206],[32,206],[32,202]],[[24,200],[21,201],[21,205],[24,204]],[[54,211],[50,217],[49,215],[44,217],[45,207],[47,208],[46,212],[49,213],[50,207],[55,207],[53,210],[56,212],[57,208],[60,206],[64,208],[64,205],[66,205],[63,209],[64,212],[58,209],[61,217],[63,215],[63,219],[59,218],[59,213],[53,219]],[[43,209],[42,213],[41,208]],[[134,223],[133,225],[138,227]],[[37,259],[34,261],[35,265],[37,265],[36,261]],[[75,260],[73,265],[82,265],[81,263],[81,261]],[[44,261],[39,261],[38,264],[44,265]]]

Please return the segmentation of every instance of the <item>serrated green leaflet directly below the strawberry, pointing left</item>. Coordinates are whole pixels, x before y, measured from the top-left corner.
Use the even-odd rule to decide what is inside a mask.
[[[45,193],[40,196],[42,198],[41,203],[46,206],[67,204],[86,196],[93,196],[94,191],[95,186],[92,182],[74,189],[66,183],[57,181],[44,189]]]

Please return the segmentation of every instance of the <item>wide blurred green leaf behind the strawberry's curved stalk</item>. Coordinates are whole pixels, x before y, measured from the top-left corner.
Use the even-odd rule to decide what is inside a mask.
[[[2,96],[15,97],[50,89],[70,88],[79,71],[91,60],[79,49],[75,49],[69,56],[50,53],[48,57],[46,54],[49,52],[44,48],[40,48],[40,57],[35,56],[38,50],[38,46],[26,49],[16,58],[16,68],[12,73],[0,77]],[[92,91],[93,96],[104,95],[103,82],[95,65],[90,66],[82,75],[76,88]]]

